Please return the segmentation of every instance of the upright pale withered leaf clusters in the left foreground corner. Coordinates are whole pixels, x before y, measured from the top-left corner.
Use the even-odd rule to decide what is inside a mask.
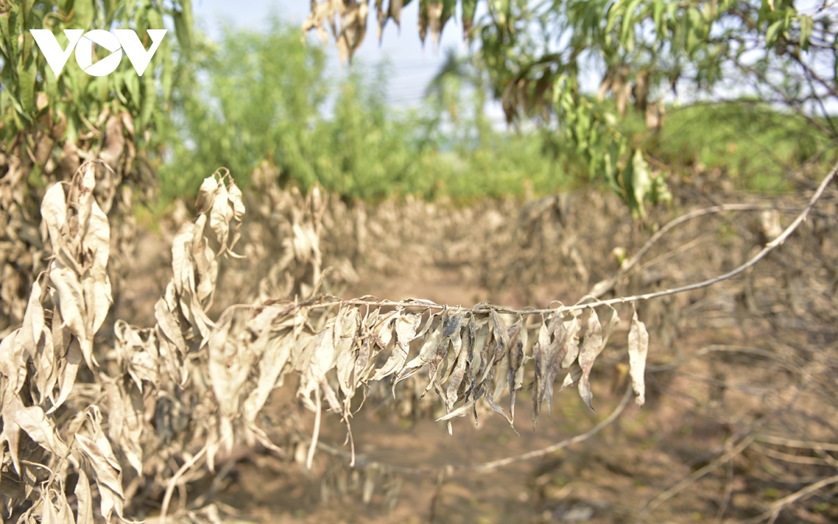
[[[22,327],[0,342],[0,493],[20,521],[92,522],[94,514],[122,521],[137,490],[171,475],[168,457],[196,436],[195,428],[184,433],[194,419],[178,393],[193,380],[187,354],[215,327],[204,306],[215,290],[216,259],[235,245],[244,213],[241,192],[226,177],[204,188],[207,209],[176,237],[175,276],[156,307],[158,326],[117,321],[109,353],[96,343],[111,306],[111,230],[94,198],[95,168],[85,163],[69,184],[44,195],[42,229],[53,255]],[[82,368],[96,381],[78,383]],[[79,478],[72,508],[64,488],[70,474]]]

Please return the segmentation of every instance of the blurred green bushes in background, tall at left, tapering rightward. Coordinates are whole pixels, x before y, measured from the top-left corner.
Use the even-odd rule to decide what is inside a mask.
[[[177,93],[171,161],[160,174],[167,200],[194,193],[220,165],[244,182],[264,160],[284,183],[317,183],[349,198],[468,199],[549,193],[567,183],[537,135],[494,131],[482,102],[452,100],[456,125],[433,105],[394,111],[384,65],[356,65],[340,79],[321,47],[301,44],[299,29],[276,19],[265,34],[228,27],[217,46],[196,45],[193,56],[191,83]]]

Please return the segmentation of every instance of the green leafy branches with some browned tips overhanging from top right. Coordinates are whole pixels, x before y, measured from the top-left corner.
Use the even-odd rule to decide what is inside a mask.
[[[838,96],[838,39],[826,5],[806,14],[786,0],[422,0],[420,37],[430,29],[436,39],[457,4],[466,37],[479,44],[476,64],[510,122],[551,112],[556,139],[575,149],[592,179],[608,184],[635,215],[644,215],[644,202],[670,198],[667,170],[648,169],[644,148],[660,132],[670,89],[710,98],[758,95],[787,106],[830,140],[838,138],[825,109]],[[484,15],[475,19],[478,4]],[[375,3],[380,27],[398,20],[401,5]],[[342,13],[338,3],[313,3],[303,29],[324,36],[339,18],[333,26],[338,47],[351,60],[360,42],[347,45],[345,37],[363,34],[365,10]],[[580,91],[580,75],[590,74],[592,65],[604,70],[597,100]],[[609,93],[613,102],[605,100]],[[622,131],[629,106],[645,117],[643,137]]]

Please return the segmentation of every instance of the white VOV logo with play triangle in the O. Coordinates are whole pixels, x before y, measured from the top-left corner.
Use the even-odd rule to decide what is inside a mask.
[[[70,40],[70,44],[67,45],[67,49],[61,49],[58,40],[49,29],[29,29],[29,32],[32,33],[35,43],[38,44],[55,76],[60,75],[61,70],[64,70],[73,49],[75,49],[76,63],[88,75],[111,74],[119,66],[124,50],[134,70],[137,71],[137,75],[142,76],[148,63],[152,61],[154,53],[160,47],[160,43],[163,42],[163,37],[166,36],[166,29],[148,29],[147,33],[152,39],[152,46],[151,49],[146,50],[142,47],[137,33],[134,33],[132,29],[114,29],[113,34],[104,29],[94,29],[87,33],[84,29],[65,29],[64,34]],[[111,54],[94,64],[93,44],[111,51]]]

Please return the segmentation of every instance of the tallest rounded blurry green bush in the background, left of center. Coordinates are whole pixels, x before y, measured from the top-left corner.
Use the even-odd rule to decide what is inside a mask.
[[[267,34],[228,27],[220,45],[195,46],[192,58],[176,93],[163,196],[194,192],[221,165],[244,182],[268,154],[313,181],[309,158],[318,144],[310,124],[328,93],[323,52],[303,47],[275,20]]]

